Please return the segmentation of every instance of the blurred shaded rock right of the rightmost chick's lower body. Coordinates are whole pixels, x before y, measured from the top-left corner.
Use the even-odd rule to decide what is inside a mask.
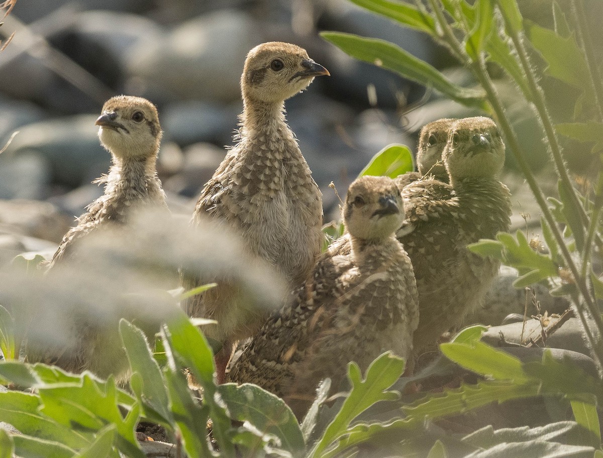
[[[517,289],[513,282],[517,280],[519,274],[517,270],[500,266],[498,277],[494,279],[490,290],[482,301],[482,306],[478,307],[473,313],[467,315],[464,325],[484,324],[498,325],[503,322],[507,315],[519,313],[523,316],[527,307],[528,318],[537,315],[537,309],[532,304],[532,294],[525,289]],[[570,304],[564,297],[554,297],[549,294],[548,289],[541,284],[533,284],[536,299],[540,302],[541,313],[563,313]]]

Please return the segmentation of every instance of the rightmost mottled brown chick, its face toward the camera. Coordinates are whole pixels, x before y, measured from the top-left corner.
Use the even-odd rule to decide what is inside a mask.
[[[450,184],[424,178],[402,190],[405,224],[397,238],[405,246],[417,279],[420,319],[415,351],[433,346],[446,330],[484,298],[499,262],[470,253],[469,243],[493,239],[510,225],[511,201],[497,175],[505,145],[489,118],[453,123],[443,153]],[[331,254],[349,251],[343,239]]]

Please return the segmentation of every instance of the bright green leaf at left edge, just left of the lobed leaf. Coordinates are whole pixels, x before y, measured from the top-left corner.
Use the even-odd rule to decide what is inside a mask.
[[[0,421],[13,425],[28,436],[59,441],[71,448],[90,444],[90,434],[72,430],[40,413],[40,398],[19,391],[0,393]]]

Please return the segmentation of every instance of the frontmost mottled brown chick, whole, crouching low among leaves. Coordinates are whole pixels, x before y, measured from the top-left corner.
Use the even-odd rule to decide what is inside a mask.
[[[394,236],[403,218],[393,180],[352,183],[344,212],[351,253],[318,262],[245,348],[228,380],[259,384],[301,418],[318,382],[330,377],[337,389],[350,361],[364,371],[384,351],[410,356],[418,306],[410,260]]]

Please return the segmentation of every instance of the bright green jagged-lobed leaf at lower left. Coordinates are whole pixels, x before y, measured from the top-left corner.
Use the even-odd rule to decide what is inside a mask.
[[[134,404],[123,418],[118,407],[118,391],[115,380],[109,378],[104,386],[99,386],[90,375],[84,373],[81,386],[39,388],[43,403],[41,410],[60,424],[84,430],[103,429],[107,424],[115,424],[118,431],[118,446],[132,458],[144,458],[134,436],[134,427],[139,419],[140,406]]]

